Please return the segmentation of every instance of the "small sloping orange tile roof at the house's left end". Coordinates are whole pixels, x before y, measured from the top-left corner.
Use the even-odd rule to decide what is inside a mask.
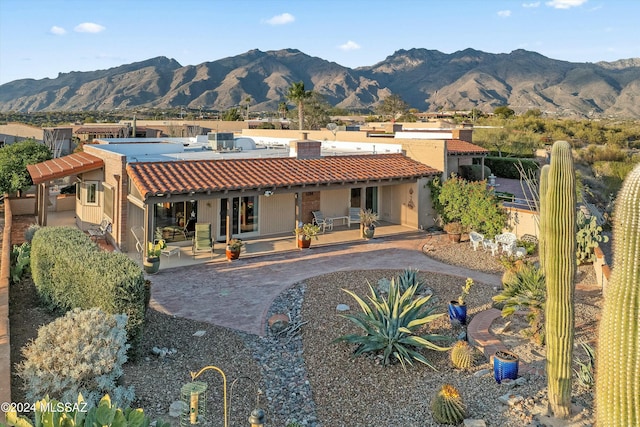
[[[27,171],[29,171],[33,183],[40,184],[45,181],[100,169],[103,166],[104,161],[100,157],[79,152],[46,160],[35,165],[27,165]]]

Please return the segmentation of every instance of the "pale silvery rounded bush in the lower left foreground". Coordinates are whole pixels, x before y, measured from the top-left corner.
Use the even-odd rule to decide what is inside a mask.
[[[126,323],[124,315],[75,309],[38,329],[17,365],[27,399],[49,395],[73,402],[82,393],[95,405],[109,393],[121,406],[131,403],[133,389],[116,385],[127,361]]]

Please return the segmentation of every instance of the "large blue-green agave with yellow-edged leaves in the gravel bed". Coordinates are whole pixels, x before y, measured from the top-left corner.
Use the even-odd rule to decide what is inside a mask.
[[[354,292],[343,289],[358,302],[363,312],[341,316],[363,329],[365,335],[343,335],[334,342],[346,341],[350,344],[357,344],[354,351],[356,357],[365,353],[382,353],[383,366],[389,365],[395,360],[406,369],[407,363],[413,365],[413,361],[416,360],[437,370],[418,350],[427,348],[447,351],[449,348],[436,345],[432,341],[445,341],[448,338],[435,334],[416,335],[415,332],[421,326],[434,321],[444,313],[434,314],[435,307],[425,306],[431,295],[415,297],[417,283],[401,292],[397,282],[398,280],[395,278],[391,280],[387,299],[380,296],[369,284],[370,305]]]

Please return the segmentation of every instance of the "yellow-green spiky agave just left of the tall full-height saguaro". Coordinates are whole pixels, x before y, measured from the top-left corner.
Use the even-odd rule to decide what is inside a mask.
[[[493,300],[502,303],[502,317],[508,317],[518,310],[527,310],[529,329],[525,335],[538,344],[544,343],[544,309],[546,286],[541,269],[526,264],[506,281],[502,292]]]

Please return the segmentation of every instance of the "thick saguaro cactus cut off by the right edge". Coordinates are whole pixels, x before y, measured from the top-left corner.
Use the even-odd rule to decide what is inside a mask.
[[[640,425],[640,166],[616,198],[614,264],[596,353],[596,424]]]

